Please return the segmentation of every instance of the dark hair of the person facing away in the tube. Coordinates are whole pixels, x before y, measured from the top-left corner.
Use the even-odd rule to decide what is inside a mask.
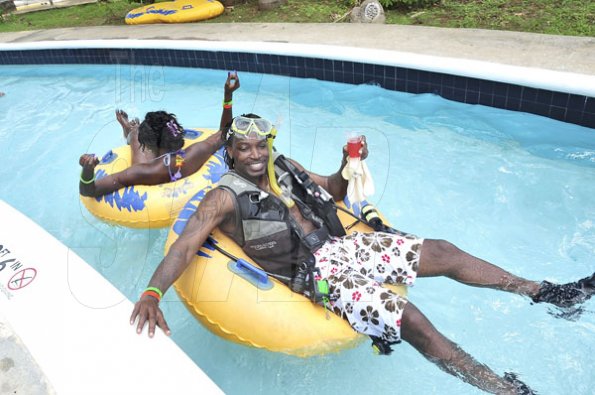
[[[161,148],[175,152],[184,146],[184,128],[174,114],[151,111],[138,127],[138,142],[155,153]]]

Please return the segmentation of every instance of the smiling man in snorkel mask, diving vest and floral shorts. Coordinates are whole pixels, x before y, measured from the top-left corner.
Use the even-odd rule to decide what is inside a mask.
[[[291,186],[294,202],[290,204],[285,193],[283,203],[273,192],[276,188],[267,173],[267,138],[272,128],[270,122],[249,114],[234,118],[225,131],[226,162],[232,170],[205,195],[135,304],[130,324],[138,318],[137,332],[141,333],[148,322],[149,337],[156,325],[170,334],[159,300],[210,232],[219,227],[266,271],[293,276],[287,283],[294,291],[304,288],[304,272],[307,276],[319,273],[317,278],[326,280],[329,287],[330,302],[324,303],[356,331],[391,344],[405,340],[444,371],[484,391],[532,394],[515,374],[499,376],[477,362],[443,336],[413,303],[382,284],[412,285],[417,277],[447,276],[472,286],[528,296],[536,303],[568,307],[595,293],[595,274],[564,285],[538,283],[508,273],[444,240],[422,239],[391,229],[386,229],[391,233],[341,236],[335,211],[318,209],[313,202],[318,201],[317,194],[326,193],[320,187],[335,201],[345,197],[347,182],[341,176],[347,163],[345,147],[339,170],[326,177],[277,157],[275,163],[289,174],[280,177],[289,179],[281,189],[287,191]],[[361,154],[363,158],[368,154],[365,139]],[[270,221],[276,221],[275,226]],[[312,289],[309,294],[313,294]]]

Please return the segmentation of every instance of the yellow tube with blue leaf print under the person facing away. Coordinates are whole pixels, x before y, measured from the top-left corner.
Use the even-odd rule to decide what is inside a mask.
[[[213,133],[217,131],[186,129],[184,146],[205,140]],[[130,146],[113,149],[95,168],[95,177],[100,179],[125,170],[130,162]],[[130,228],[164,228],[171,225],[188,199],[213,186],[214,174],[218,174],[218,181],[225,171],[227,167],[219,150],[197,172],[175,182],[133,185],[101,197],[80,196],[80,199],[91,214],[107,223]]]

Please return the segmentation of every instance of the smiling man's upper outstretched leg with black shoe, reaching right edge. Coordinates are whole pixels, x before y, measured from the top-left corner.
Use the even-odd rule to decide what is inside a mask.
[[[513,292],[534,302],[570,307],[595,294],[595,273],[568,284],[538,283],[515,276],[496,265],[476,258],[444,240],[424,240],[418,276],[446,276],[473,285]]]

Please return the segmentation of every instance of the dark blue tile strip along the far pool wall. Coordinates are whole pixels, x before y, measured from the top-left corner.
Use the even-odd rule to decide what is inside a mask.
[[[526,111],[595,128],[595,98],[402,67],[297,56],[171,49],[55,49],[0,51],[0,65],[138,64],[278,74],[373,84],[409,93]]]

